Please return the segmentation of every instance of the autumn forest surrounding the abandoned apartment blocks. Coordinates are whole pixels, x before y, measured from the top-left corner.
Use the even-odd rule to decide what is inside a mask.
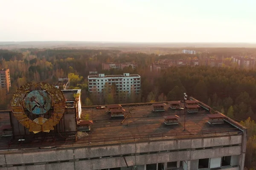
[[[204,48],[201,53],[189,54],[145,54],[118,50],[89,49],[18,49],[0,50],[0,68],[9,68],[12,88],[6,95],[0,89],[0,108],[10,107],[12,93],[20,85],[31,81],[55,83],[58,77],[70,78],[70,89],[82,89],[82,105],[104,105],[112,103],[153,102],[182,100],[183,92],[206,103],[213,109],[227,114],[238,122],[250,127],[250,155],[256,156],[256,70],[240,69],[234,66],[213,68],[207,66],[169,67],[161,71],[150,71],[150,65],[158,59],[188,59],[189,57],[215,57],[230,60],[232,55],[253,55],[255,48]],[[207,51],[207,52],[205,52]],[[161,53],[161,51],[160,51]],[[236,54],[235,54],[236,53]],[[102,62],[134,62],[136,69],[102,70]],[[122,95],[114,85],[105,90],[102,99],[88,93],[89,71],[104,74],[139,74],[141,93],[131,94],[120,101]],[[108,88],[106,88],[108,89]],[[249,118],[248,118],[249,117]],[[248,119],[247,119],[248,118]],[[253,144],[252,144],[253,143]],[[248,164],[247,164],[248,165]],[[256,166],[253,163],[251,166]],[[247,166],[249,167],[249,166]]]

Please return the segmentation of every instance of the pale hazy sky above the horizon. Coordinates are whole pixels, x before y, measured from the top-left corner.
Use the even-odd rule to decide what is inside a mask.
[[[256,42],[256,0],[0,0],[0,41]]]

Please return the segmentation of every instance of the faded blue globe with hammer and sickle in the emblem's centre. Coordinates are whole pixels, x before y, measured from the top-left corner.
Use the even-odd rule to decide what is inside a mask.
[[[51,108],[51,98],[44,91],[31,91],[25,98],[27,110],[33,114],[45,114]]]

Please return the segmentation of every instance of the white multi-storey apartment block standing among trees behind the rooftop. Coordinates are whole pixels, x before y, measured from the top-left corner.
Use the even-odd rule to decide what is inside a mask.
[[[123,75],[89,75],[88,76],[88,89],[89,92],[102,92],[105,88],[105,84],[112,85],[112,83],[116,84],[118,91],[126,92],[127,94],[131,94],[134,92],[135,94],[140,93],[140,75],[138,74],[129,74],[124,73]]]

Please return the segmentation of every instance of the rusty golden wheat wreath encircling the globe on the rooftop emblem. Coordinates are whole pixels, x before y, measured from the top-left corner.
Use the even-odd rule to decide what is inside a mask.
[[[51,107],[54,108],[54,110],[49,119],[38,117],[35,120],[31,120],[26,115],[24,109],[28,108],[28,106],[27,106],[27,103],[25,102],[25,99],[29,95],[29,93],[32,91],[39,91],[41,94],[46,93],[48,98],[51,100],[50,105]],[[36,94],[38,94],[38,92]],[[43,98],[43,96],[41,96],[41,98]],[[36,106],[38,105],[41,106],[43,104],[42,102],[37,102],[37,100],[35,101],[36,101],[35,103],[37,103]],[[49,108],[49,106],[47,107]],[[55,88],[53,85],[50,85],[45,82],[26,83],[25,85],[22,85],[20,88],[18,88],[12,97],[12,112],[14,113],[15,118],[23,126],[28,128],[29,132],[34,132],[34,133],[49,132],[50,130],[54,130],[53,126],[57,125],[58,122],[61,120],[65,111],[65,107],[66,107],[66,103],[65,103],[65,97],[63,95],[63,92],[58,88]],[[28,110],[31,111],[32,109],[29,108]],[[44,113],[45,111],[42,114]],[[34,114],[40,115],[41,113],[37,112]]]

